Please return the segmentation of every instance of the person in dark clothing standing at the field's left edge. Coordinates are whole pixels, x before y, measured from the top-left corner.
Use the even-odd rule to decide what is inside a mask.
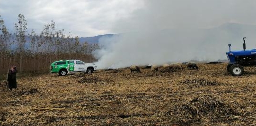
[[[8,88],[12,90],[12,88],[17,88],[17,81],[16,81],[16,66],[11,66],[11,69],[8,72]]]

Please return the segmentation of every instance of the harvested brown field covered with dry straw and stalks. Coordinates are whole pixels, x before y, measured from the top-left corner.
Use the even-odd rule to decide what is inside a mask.
[[[256,125],[256,68],[233,77],[226,65],[19,77],[17,89],[0,88],[0,125]]]

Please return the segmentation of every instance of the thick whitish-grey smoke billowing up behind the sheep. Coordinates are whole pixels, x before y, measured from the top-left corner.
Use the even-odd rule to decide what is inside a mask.
[[[247,25],[225,24],[244,21],[232,15],[242,8],[238,7],[239,0],[234,0],[232,4],[229,0],[221,2],[145,0],[141,10],[119,20],[113,27],[113,31],[125,33],[100,39],[102,48],[94,52],[98,68],[226,59],[229,43],[241,49],[242,37],[255,38],[251,31],[256,30],[247,32]],[[231,7],[232,10],[227,11],[226,8]]]

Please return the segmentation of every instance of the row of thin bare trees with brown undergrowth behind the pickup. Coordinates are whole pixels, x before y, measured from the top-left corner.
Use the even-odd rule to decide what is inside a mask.
[[[0,75],[6,74],[9,64],[15,64],[19,72],[49,71],[50,63],[63,59],[80,59],[93,62],[92,51],[97,44],[79,42],[79,37],[65,35],[64,30],[55,30],[55,22],[44,25],[40,34],[27,31],[27,21],[18,15],[15,32],[10,33],[0,16]]]

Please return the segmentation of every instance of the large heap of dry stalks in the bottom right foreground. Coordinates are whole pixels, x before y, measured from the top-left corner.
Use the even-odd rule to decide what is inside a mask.
[[[192,122],[200,123],[205,120],[210,122],[229,122],[244,116],[234,102],[228,102],[221,99],[221,97],[213,95],[203,95],[202,97],[188,99],[181,105],[175,105],[175,109],[171,113],[173,114],[171,116],[175,115],[175,120],[183,125]]]

